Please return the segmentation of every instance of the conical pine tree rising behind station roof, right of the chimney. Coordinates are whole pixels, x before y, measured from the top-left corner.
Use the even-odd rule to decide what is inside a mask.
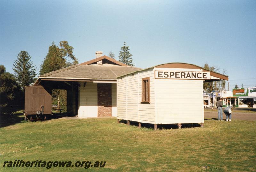
[[[126,46],[126,42],[124,41],[124,46],[122,46],[121,51],[119,51],[119,61],[127,64],[128,66],[134,66],[134,63],[132,63],[132,54],[129,50],[129,46]]]

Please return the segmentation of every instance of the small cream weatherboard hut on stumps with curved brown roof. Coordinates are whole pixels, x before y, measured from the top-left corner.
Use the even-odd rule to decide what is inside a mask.
[[[204,123],[203,83],[228,76],[186,63],[167,63],[117,77],[117,120]],[[187,103],[189,102],[189,103]]]

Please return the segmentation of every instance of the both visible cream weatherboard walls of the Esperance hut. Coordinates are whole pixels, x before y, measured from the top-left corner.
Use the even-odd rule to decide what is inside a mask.
[[[117,119],[141,123],[203,123],[203,80],[155,79],[157,71],[202,69],[151,68],[117,78]],[[150,77],[150,104],[141,103],[142,78]]]

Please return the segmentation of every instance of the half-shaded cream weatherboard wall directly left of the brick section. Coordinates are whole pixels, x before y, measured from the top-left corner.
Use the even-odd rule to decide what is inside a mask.
[[[79,118],[98,117],[97,83],[87,82],[79,87]]]

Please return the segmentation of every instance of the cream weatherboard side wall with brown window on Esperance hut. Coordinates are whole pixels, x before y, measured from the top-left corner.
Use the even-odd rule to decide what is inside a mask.
[[[141,104],[142,78],[150,77],[150,104]],[[117,79],[117,118],[155,123],[154,71],[148,69]]]

